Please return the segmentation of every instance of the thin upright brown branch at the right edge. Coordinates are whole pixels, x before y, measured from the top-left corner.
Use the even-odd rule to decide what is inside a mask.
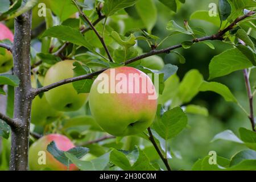
[[[245,85],[246,85],[247,95],[249,98],[249,106],[250,106],[250,114],[248,115],[248,118],[250,119],[251,127],[252,127],[253,131],[256,131],[255,121],[254,121],[254,113],[253,113],[253,94],[251,93],[251,85],[250,85],[250,80],[249,80],[249,75],[248,75],[247,69],[243,69],[243,76],[245,77]]]

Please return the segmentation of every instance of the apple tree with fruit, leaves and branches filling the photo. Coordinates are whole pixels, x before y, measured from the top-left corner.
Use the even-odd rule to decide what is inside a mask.
[[[188,127],[188,114],[208,115],[205,107],[191,102],[199,92],[208,91],[233,102],[251,126],[250,130],[240,127],[240,137],[225,130],[213,140],[230,140],[249,149],[232,159],[217,155],[217,162],[205,156],[192,169],[256,169],[256,90],[250,80],[256,66],[256,2],[209,2],[212,9],[195,10],[189,20],[178,23],[175,13],[186,3],[1,1],[0,94],[7,101],[1,100],[5,114],[0,113],[0,169],[171,171],[176,167],[171,164],[175,152],[170,143]],[[162,24],[167,36],[162,37],[154,28],[162,23],[164,11],[169,14],[168,23]],[[217,31],[207,34],[206,26],[193,27],[192,20],[212,23]],[[182,39],[176,44],[177,36]],[[177,49],[195,44],[214,49],[213,42],[225,43],[226,48],[212,57],[209,79],[191,69],[180,80],[176,72],[186,60]],[[163,60],[161,56],[168,54],[179,63]],[[144,78],[158,98],[148,100],[148,90],[98,93],[101,76],[109,76],[111,85],[111,71],[124,76],[140,73],[142,77],[135,80]],[[236,71],[243,71],[249,110],[228,86],[212,81]],[[127,81],[124,86],[134,85]],[[143,88],[142,83],[139,86]],[[148,146],[154,155],[146,150]]]

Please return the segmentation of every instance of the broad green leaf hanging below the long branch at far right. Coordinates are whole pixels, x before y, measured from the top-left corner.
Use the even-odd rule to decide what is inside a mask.
[[[250,68],[253,65],[237,48],[228,49],[210,61],[209,80],[228,75],[234,71]]]

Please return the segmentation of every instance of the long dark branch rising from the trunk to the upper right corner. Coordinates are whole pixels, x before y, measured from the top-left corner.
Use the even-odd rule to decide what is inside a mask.
[[[253,11],[251,11],[251,12],[253,12]],[[253,15],[254,13],[249,12],[248,14]],[[238,20],[243,20],[243,19],[245,19],[245,17],[246,18],[249,17],[248,14],[241,16],[240,18],[238,18]],[[236,19],[234,22],[237,22],[238,20]],[[223,38],[223,35],[225,34],[224,32],[232,30],[232,27],[234,27],[234,24],[237,24],[237,23],[234,23],[234,22],[232,23],[232,26],[228,26],[229,28],[225,28],[224,30],[219,31],[217,34],[214,34],[212,36],[205,36],[205,37],[199,38],[199,39],[196,38],[196,39],[191,40],[191,42],[198,43],[198,42],[203,42],[205,40],[224,40],[224,38]],[[153,55],[159,55],[161,53],[170,53],[170,51],[172,51],[174,49],[177,49],[177,48],[181,48],[181,47],[182,47],[181,44],[177,44],[175,46],[171,46],[171,47],[163,48],[163,49],[159,49],[159,50],[153,49],[152,51],[150,51],[148,53],[144,53],[143,55],[140,55],[140,56],[134,57],[133,59],[127,60],[123,64],[128,65],[128,64],[133,63],[135,61],[144,59],[146,57],[150,57],[150,56],[153,56]],[[104,72],[106,69],[108,69],[108,68],[104,68],[104,69],[101,69],[100,71],[89,73],[87,75],[81,75],[81,76],[78,76],[78,77],[73,77],[73,78],[68,78],[68,79],[65,79],[65,80],[61,80],[61,81],[53,83],[51,85],[47,85],[47,86],[44,86],[42,88],[35,89],[34,90],[35,96],[38,95],[39,93],[47,92],[48,90],[56,88],[57,86],[68,84],[70,82],[85,80],[85,79],[92,79],[94,76],[99,75],[100,73]]]

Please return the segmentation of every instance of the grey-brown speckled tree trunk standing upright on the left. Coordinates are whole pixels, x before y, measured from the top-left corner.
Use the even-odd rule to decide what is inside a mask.
[[[15,88],[14,119],[20,123],[12,128],[10,170],[28,169],[28,142],[30,133],[31,94],[30,41],[31,11],[22,14],[14,23],[13,61],[14,75],[20,80]]]

